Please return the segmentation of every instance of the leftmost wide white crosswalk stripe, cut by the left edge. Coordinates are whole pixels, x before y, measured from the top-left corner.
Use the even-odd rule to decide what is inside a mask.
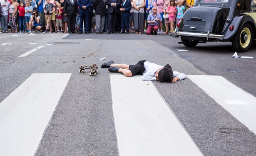
[[[0,103],[0,156],[33,156],[70,73],[32,74]]]

